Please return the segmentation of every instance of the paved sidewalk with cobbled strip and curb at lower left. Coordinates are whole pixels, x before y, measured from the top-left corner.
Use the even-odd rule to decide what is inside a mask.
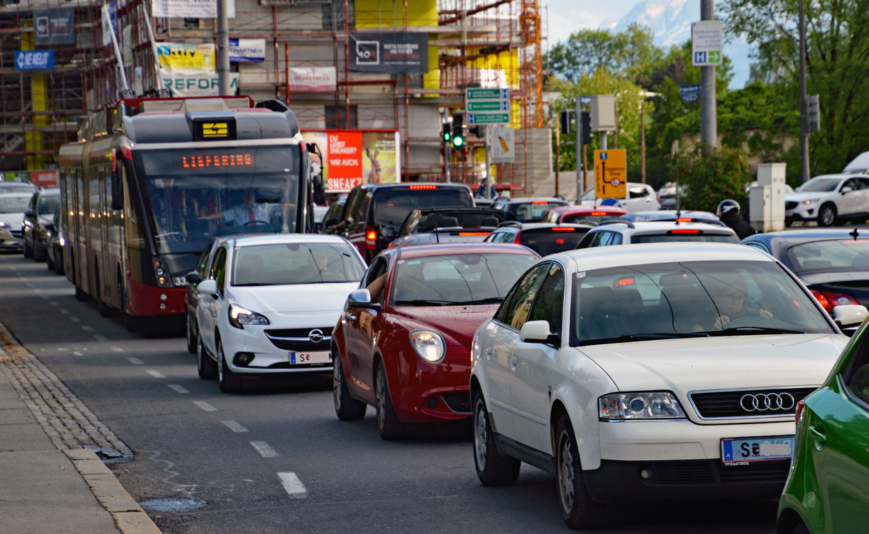
[[[46,417],[58,405],[76,412],[81,403],[70,397],[0,324],[0,528],[14,534],[160,534],[93,449],[70,447],[68,427],[80,421],[63,413],[57,419],[63,423]],[[74,419],[87,425],[87,417]]]

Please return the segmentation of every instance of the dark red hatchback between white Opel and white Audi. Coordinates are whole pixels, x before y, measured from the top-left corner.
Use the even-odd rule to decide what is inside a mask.
[[[332,333],[338,419],[377,412],[381,438],[471,415],[471,341],[539,256],[514,244],[389,248]]]

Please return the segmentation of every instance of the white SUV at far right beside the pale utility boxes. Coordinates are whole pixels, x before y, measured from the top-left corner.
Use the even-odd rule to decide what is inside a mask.
[[[818,221],[819,227],[869,218],[869,176],[821,175],[785,194],[785,221]]]

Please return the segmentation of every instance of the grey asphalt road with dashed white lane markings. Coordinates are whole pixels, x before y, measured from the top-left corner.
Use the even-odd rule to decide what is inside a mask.
[[[180,334],[128,333],[20,254],[0,256],[0,320],[135,453],[109,468],[167,534],[567,531],[545,472],[480,485],[466,427],[382,441],[373,408],[335,417],[328,377],[221,393]],[[607,532],[773,532],[776,501],[739,497],[626,498]]]

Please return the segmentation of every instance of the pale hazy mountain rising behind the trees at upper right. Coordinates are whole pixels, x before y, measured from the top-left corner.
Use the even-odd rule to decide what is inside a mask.
[[[619,33],[632,23],[639,23],[651,28],[654,43],[667,50],[690,40],[691,23],[699,20],[700,2],[697,0],[645,0],[634,5],[618,22],[607,20],[601,28]],[[724,54],[733,62],[731,89],[742,89],[748,82],[749,49],[743,40],[724,43]]]

